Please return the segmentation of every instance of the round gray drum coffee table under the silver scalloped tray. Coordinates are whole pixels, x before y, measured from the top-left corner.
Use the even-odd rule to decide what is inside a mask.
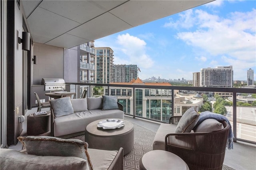
[[[124,155],[128,154],[134,145],[134,127],[130,121],[124,121],[124,126],[116,129],[98,128],[97,124],[106,119],[94,121],[86,126],[85,142],[88,148],[102,150],[119,150],[124,148]]]

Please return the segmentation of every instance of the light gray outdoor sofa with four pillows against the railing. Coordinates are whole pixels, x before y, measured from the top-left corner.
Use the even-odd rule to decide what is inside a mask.
[[[86,126],[99,119],[124,119],[123,106],[115,96],[50,101],[51,135],[70,138],[84,134]]]

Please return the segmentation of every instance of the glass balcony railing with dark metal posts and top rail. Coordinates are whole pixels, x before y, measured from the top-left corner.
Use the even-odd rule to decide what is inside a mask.
[[[67,84],[86,85],[88,97],[117,96],[126,115],[161,123],[168,123],[170,116],[182,116],[190,107],[196,107],[199,112],[209,110],[220,113],[229,119],[234,132],[234,141],[256,144],[255,89],[97,83]]]

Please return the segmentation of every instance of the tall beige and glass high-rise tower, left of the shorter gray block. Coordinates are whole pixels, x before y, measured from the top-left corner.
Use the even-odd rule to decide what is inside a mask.
[[[108,84],[113,74],[114,51],[110,47],[95,47],[96,83]]]

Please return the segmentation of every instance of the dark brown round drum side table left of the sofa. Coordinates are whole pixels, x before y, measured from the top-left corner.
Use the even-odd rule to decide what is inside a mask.
[[[51,113],[47,115],[34,116],[34,113],[27,117],[27,134],[42,134],[50,130]]]

